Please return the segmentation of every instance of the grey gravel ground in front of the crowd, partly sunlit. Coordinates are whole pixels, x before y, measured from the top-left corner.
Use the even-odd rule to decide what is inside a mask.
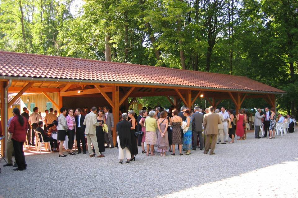
[[[116,148],[104,158],[27,156],[25,171],[2,167],[2,160],[0,197],[298,197],[298,132],[270,140],[247,136],[217,144],[215,155],[198,149],[146,156],[139,147],[130,164],[118,163]]]

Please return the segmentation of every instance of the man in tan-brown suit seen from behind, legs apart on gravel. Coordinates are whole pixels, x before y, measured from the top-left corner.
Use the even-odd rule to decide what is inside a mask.
[[[214,149],[216,145],[216,139],[218,135],[218,124],[221,124],[221,120],[218,114],[214,113],[214,107],[210,106],[208,108],[209,113],[205,114],[203,119],[204,133],[206,134],[205,151],[207,154],[210,149],[210,155],[214,155]],[[212,139],[210,148],[210,138]]]

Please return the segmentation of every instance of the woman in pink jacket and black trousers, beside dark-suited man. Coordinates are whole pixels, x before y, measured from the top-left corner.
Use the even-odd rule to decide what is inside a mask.
[[[73,116],[74,110],[69,109],[68,110],[68,116],[66,116],[66,121],[67,121],[67,137],[68,137],[68,154],[70,155],[75,155],[75,152],[72,151],[72,147],[74,145],[74,140],[75,140],[75,117]]]

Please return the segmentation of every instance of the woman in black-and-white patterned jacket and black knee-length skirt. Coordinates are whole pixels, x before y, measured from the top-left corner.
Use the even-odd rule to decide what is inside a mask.
[[[58,116],[58,125],[57,125],[57,140],[60,141],[59,145],[59,157],[65,157],[66,155],[63,154],[63,143],[65,141],[66,131],[68,129],[67,121],[65,118],[66,115],[66,108],[62,107],[60,109],[60,115]]]

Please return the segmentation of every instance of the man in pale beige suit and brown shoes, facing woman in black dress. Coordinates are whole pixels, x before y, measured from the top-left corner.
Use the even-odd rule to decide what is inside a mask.
[[[99,122],[97,122],[97,119],[96,119],[97,117],[96,112],[97,112],[97,108],[95,106],[92,107],[91,112],[86,115],[83,123],[86,126],[85,134],[87,136],[88,152],[89,152],[89,157],[94,157],[94,155],[92,154],[93,150],[91,149],[91,143],[92,143],[93,148],[95,149],[95,152],[97,154],[97,157],[105,157],[99,152],[98,146],[97,146],[95,127],[99,126]]]

